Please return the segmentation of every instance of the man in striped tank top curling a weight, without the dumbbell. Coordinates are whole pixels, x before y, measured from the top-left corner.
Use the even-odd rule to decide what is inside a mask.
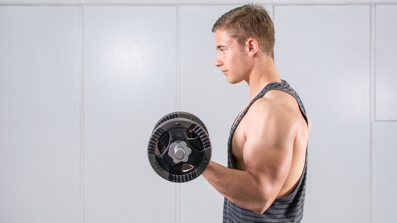
[[[310,121],[298,94],[278,76],[274,26],[260,5],[235,8],[212,32],[215,65],[229,83],[246,81],[250,102],[228,142],[228,168],[210,161],[202,174],[225,197],[225,223],[300,222]]]

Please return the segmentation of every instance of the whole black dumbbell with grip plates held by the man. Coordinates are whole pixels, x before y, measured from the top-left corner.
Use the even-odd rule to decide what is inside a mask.
[[[211,141],[204,123],[187,112],[173,112],[154,126],[148,159],[160,177],[183,183],[200,176],[211,160]]]

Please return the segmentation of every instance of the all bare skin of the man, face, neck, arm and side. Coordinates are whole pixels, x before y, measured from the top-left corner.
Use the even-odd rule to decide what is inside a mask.
[[[225,30],[217,30],[215,36],[215,66],[224,71],[229,83],[248,83],[249,102],[269,83],[281,83],[274,61],[254,38],[241,46]],[[202,175],[237,206],[261,214],[276,198],[295,190],[303,172],[309,133],[310,119],[307,125],[295,98],[270,90],[252,104],[233,135],[236,169],[210,161]]]

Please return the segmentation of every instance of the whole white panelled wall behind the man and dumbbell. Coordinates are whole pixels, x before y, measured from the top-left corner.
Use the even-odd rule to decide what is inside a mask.
[[[312,121],[303,222],[394,219],[395,2],[260,2]],[[162,179],[146,150],[186,111],[226,165],[249,88],[214,67],[211,28],[242,4],[0,0],[0,222],[221,222],[222,195]]]

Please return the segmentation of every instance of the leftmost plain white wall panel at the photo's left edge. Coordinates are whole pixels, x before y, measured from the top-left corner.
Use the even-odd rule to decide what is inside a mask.
[[[79,7],[0,6],[0,221],[80,217]]]

